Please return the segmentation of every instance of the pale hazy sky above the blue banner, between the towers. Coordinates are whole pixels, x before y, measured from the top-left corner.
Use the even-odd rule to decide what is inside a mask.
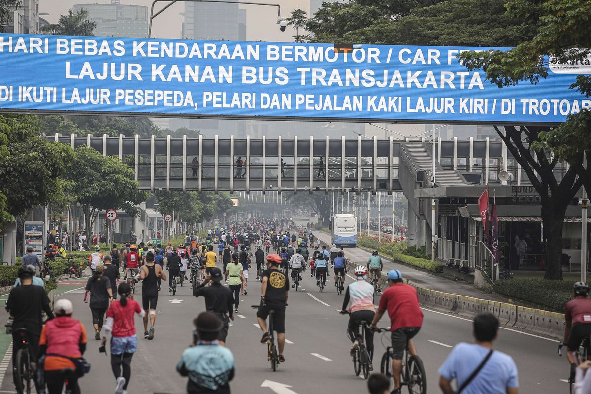
[[[301,2],[298,0],[269,0],[261,1],[270,4],[281,5],[281,16],[288,17],[293,9],[300,5],[300,8],[306,12],[310,11],[310,0]],[[57,22],[60,15],[66,14],[74,4],[111,4],[111,0],[40,0],[39,12],[48,12],[49,15],[43,15],[43,18],[49,22]],[[150,7],[152,0],[121,0],[121,4],[144,5]],[[154,10],[163,8],[167,3],[161,2],[154,6]],[[291,38],[295,32],[288,27],[285,31],[279,30],[277,25],[277,8],[257,5],[245,5],[246,8],[246,39],[249,41],[293,41]],[[183,17],[180,15],[184,11],[184,4],[177,3],[161,15],[154,19],[152,26],[152,37],[157,38],[181,38],[181,23]],[[149,11],[148,11],[149,12]],[[156,11],[154,11],[156,12]]]

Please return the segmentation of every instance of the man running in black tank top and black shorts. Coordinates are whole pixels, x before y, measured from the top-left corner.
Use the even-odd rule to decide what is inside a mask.
[[[139,269],[139,280],[142,281],[142,306],[146,311],[144,316],[144,338],[154,339],[154,324],[156,323],[156,305],[158,304],[158,278],[166,280],[162,267],[154,263],[154,253],[146,252],[145,264]],[[150,331],[148,331],[148,316]]]

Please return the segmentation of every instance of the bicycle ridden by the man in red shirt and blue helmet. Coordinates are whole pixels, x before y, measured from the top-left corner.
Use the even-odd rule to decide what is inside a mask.
[[[390,332],[385,328],[378,328],[378,333],[383,333],[384,331]],[[384,336],[382,336],[384,338]],[[382,346],[384,344],[382,343]],[[394,377],[392,376],[392,364],[390,360],[392,359],[392,346],[385,346],[386,351],[382,356],[382,361],[380,363],[380,372],[387,376],[389,379],[394,382]],[[400,386],[408,386],[408,392],[411,394],[426,394],[427,393],[427,375],[425,374],[425,367],[423,365],[423,360],[418,355],[410,354],[408,351],[408,341],[407,346],[404,349],[404,353],[402,354],[402,371],[400,372]]]

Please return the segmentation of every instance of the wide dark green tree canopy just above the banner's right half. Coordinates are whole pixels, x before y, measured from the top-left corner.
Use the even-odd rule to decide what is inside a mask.
[[[504,0],[323,3],[306,22],[316,43],[511,46],[525,37]],[[478,12],[475,12],[478,10]]]

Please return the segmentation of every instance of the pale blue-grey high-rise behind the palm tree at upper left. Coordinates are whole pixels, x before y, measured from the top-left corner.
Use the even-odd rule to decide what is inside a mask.
[[[148,37],[148,7],[119,4],[76,4],[74,12],[86,9],[89,20],[96,22],[94,34],[97,37]]]

